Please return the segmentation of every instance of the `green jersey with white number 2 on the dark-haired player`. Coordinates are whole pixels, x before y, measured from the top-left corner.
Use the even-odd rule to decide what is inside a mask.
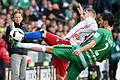
[[[99,28],[91,40],[96,41],[96,46],[79,55],[84,67],[92,65],[99,58],[105,59],[113,47],[113,37],[108,29]]]

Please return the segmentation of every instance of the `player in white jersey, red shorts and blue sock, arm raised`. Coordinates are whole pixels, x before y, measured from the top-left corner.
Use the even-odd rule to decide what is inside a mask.
[[[78,45],[84,40],[87,40],[90,34],[94,33],[97,30],[97,23],[95,21],[96,13],[91,8],[86,8],[82,10],[81,5],[79,5],[78,11],[81,14],[82,21],[79,22],[69,33],[65,36],[64,39],[51,34],[45,30],[40,30],[36,32],[28,32],[24,34],[25,38],[30,39],[40,39],[44,38],[48,45],[57,45],[57,44],[66,44],[66,45]],[[83,38],[81,38],[81,36]],[[89,36],[89,37],[88,37]],[[81,42],[79,42],[81,41]],[[67,60],[60,59],[56,56],[53,57],[53,65],[56,68],[56,78],[59,80],[64,80],[64,76],[67,68]]]

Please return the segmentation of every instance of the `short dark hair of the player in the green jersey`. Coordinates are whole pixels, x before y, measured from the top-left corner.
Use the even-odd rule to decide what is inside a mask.
[[[114,24],[114,16],[113,16],[112,13],[103,13],[102,14],[102,19],[104,21],[107,20],[110,27],[113,26],[113,24]]]

